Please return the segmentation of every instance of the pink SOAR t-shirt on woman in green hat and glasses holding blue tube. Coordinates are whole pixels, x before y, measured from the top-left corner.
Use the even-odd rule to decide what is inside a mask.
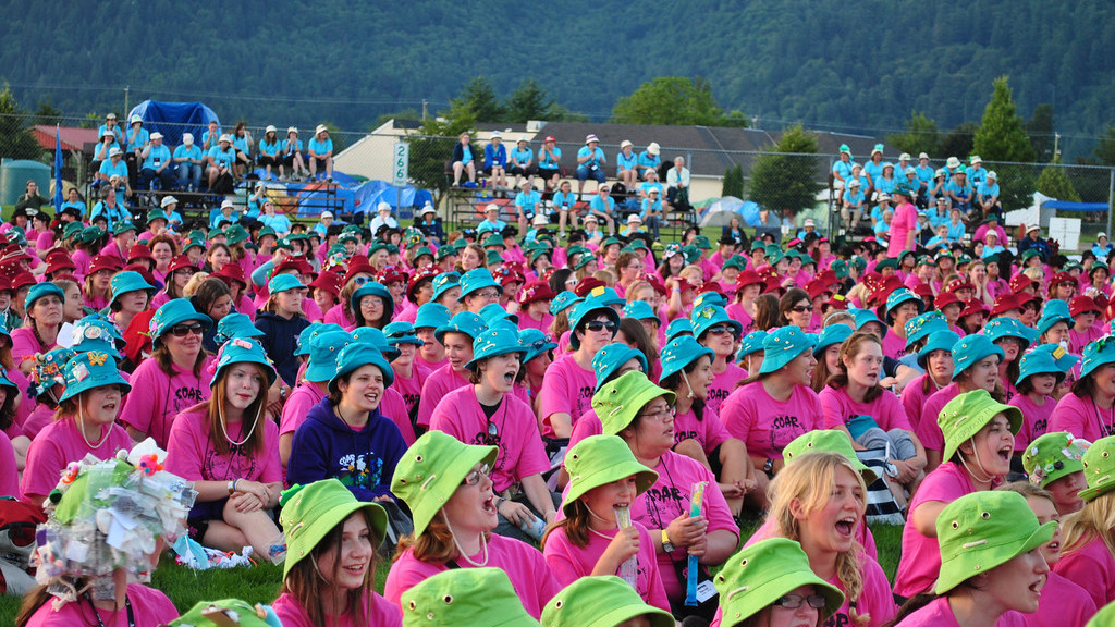
[[[739,528],[736,527],[736,522],[731,518],[731,510],[728,509],[728,502],[724,500],[716,478],[708,469],[685,455],[667,451],[653,471],[658,473],[658,481],[631,504],[631,520],[641,523],[647,529],[653,529],[658,533],[657,530],[669,527],[670,521],[681,515],[682,512],[688,514],[694,483],[707,481],[708,486],[705,489],[705,503],[701,512],[708,520],[708,531],[727,530],[735,534],[738,540]],[[685,588],[678,581],[673,560],[680,562],[687,559],[685,548],[678,547],[672,553],[657,554],[658,572],[662,578],[666,596],[681,600]]]

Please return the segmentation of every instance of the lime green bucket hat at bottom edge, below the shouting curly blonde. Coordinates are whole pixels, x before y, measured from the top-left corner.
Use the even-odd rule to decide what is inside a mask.
[[[844,605],[844,592],[817,577],[802,546],[786,538],[744,547],[728,558],[712,583],[720,594],[724,625],[738,625],[802,586],[813,586],[825,598],[822,619]]]

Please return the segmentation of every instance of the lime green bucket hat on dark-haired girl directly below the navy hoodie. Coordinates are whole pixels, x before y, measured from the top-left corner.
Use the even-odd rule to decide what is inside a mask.
[[[387,512],[377,503],[357,501],[337,479],[322,479],[309,485],[291,485],[283,490],[279,504],[279,524],[287,540],[287,561],[282,567],[285,579],[295,563],[308,557],[338,524],[352,512],[367,510],[371,518],[372,544],[379,547],[387,531]]]

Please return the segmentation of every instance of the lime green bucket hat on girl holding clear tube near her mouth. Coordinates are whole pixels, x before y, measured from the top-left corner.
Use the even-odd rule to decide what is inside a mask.
[[[594,488],[634,475],[637,494],[642,494],[658,481],[658,473],[640,464],[617,435],[585,437],[569,450],[564,464],[569,488],[561,509],[565,515],[572,515],[573,503]]]

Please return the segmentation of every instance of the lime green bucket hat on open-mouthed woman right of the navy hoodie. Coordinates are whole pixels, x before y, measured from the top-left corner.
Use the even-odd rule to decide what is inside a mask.
[[[465,444],[440,431],[427,431],[407,448],[395,466],[391,493],[410,508],[415,537],[449,501],[476,464],[495,464],[495,446]]]

